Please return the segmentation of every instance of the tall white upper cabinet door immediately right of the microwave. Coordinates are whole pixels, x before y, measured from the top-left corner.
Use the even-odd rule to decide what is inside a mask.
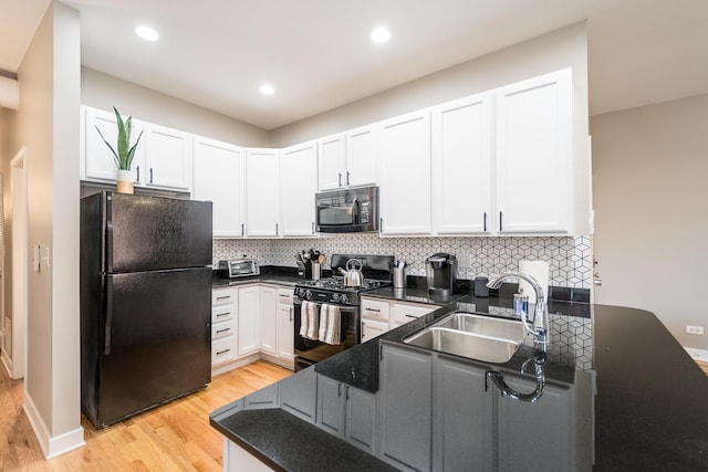
[[[381,234],[430,233],[430,111],[379,124]]]

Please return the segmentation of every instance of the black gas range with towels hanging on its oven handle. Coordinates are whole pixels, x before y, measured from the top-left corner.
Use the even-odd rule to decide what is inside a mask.
[[[330,266],[333,274],[339,268],[346,269],[346,262],[356,259],[362,263],[364,274],[361,286],[346,286],[344,277],[333,275],[317,281],[303,281],[295,284],[293,312],[295,329],[295,371],[310,367],[327,357],[334,356],[362,342],[362,315],[360,295],[366,291],[391,285],[392,270],[395,258],[393,255],[362,255],[333,254]],[[336,305],[340,308],[339,345],[326,344],[321,340],[309,339],[300,335],[302,326],[302,304],[304,301]]]

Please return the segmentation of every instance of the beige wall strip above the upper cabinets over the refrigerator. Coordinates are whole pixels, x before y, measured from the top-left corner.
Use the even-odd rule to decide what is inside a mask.
[[[122,81],[92,69],[81,70],[81,103],[174,129],[249,147],[270,145],[266,129]]]

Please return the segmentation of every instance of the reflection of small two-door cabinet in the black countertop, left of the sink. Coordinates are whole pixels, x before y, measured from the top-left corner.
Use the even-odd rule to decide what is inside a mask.
[[[376,396],[317,375],[316,424],[332,434],[375,453]]]

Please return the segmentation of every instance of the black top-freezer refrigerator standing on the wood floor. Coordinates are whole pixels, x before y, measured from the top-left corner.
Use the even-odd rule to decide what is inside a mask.
[[[103,428],[211,381],[211,202],[81,199],[81,405]]]

